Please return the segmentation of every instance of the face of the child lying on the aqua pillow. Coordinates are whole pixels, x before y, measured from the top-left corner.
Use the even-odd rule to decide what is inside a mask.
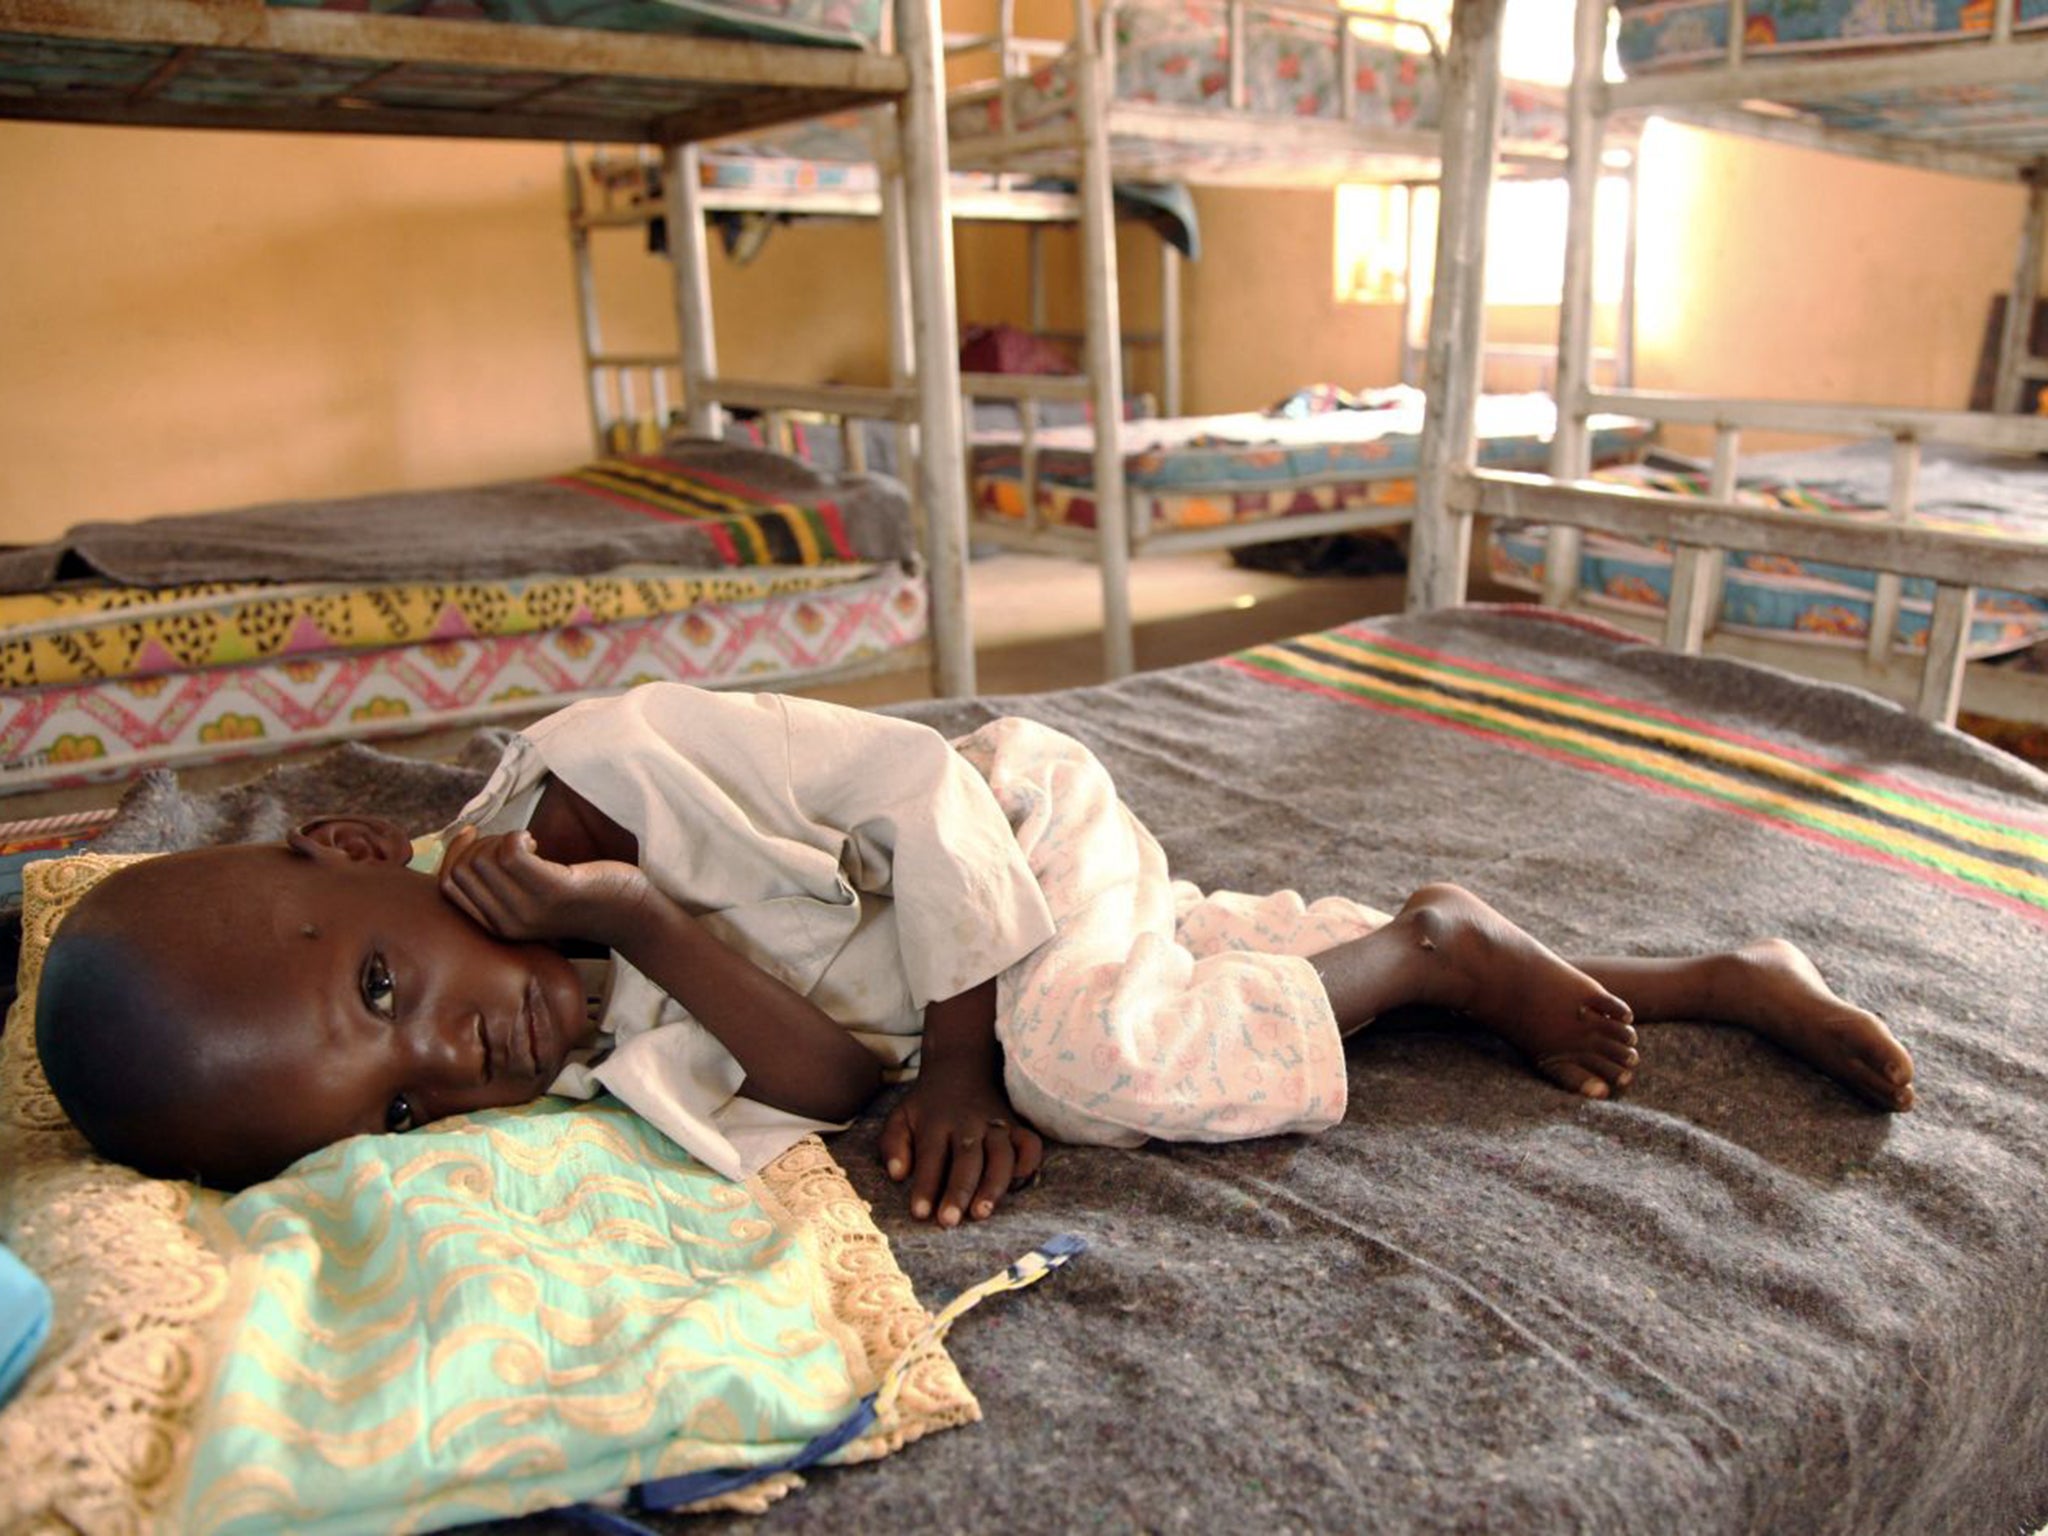
[[[358,1133],[541,1096],[592,1026],[584,987],[545,944],[508,944],[432,877],[336,850],[219,850],[242,918],[172,918],[178,1001],[203,1102],[182,1130],[197,1163],[266,1178]],[[217,1176],[215,1176],[217,1178]]]

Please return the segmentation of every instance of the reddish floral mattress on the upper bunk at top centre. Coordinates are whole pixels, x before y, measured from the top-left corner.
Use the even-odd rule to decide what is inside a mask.
[[[1356,104],[1352,125],[1366,129],[1436,129],[1442,119],[1442,88],[1430,53],[1419,51],[1419,33],[1403,33],[1405,47],[1360,37],[1354,45]],[[1229,106],[1229,23],[1227,6],[1208,0],[1190,4],[1124,4],[1116,10],[1116,102],[1178,106],[1227,113]],[[1341,53],[1335,31],[1298,12],[1249,12],[1245,25],[1247,111],[1257,117],[1343,121]],[[950,133],[973,139],[985,133],[1024,133],[1065,123],[1077,111],[1075,66],[1061,57],[1018,82],[1010,100],[1001,94],[963,96],[950,111]],[[1501,137],[1520,143],[1563,143],[1563,92],[1507,82],[1501,102]],[[1272,137],[1233,145],[1186,147],[1184,154],[1210,158],[1217,166],[1300,156],[1300,145]],[[1126,164],[1141,158],[1139,139],[1124,139],[1112,125],[1112,158]]]

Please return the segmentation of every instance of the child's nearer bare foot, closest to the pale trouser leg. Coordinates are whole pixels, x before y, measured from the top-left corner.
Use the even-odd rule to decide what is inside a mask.
[[[1413,940],[1419,1001],[1458,1010],[1573,1094],[1628,1087],[1636,1067],[1628,1004],[1470,891],[1425,885],[1389,928]]]

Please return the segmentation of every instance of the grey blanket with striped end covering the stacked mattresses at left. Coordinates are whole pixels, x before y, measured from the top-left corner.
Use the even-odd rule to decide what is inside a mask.
[[[672,438],[551,479],[233,512],[82,522],[0,551],[0,592],[59,580],[471,582],[621,565],[702,569],[907,559],[907,500],[881,475],[825,475],[725,442]]]

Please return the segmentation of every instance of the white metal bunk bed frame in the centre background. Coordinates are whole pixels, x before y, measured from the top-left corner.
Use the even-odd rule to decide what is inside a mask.
[[[1333,506],[1315,502],[1319,510],[1288,508],[1286,516],[1243,518],[1235,502],[1243,467],[1219,465],[1212,479],[1202,479],[1208,469],[1190,461],[1186,469],[1196,479],[1186,489],[1210,508],[1229,508],[1229,514],[1210,516],[1204,508],[1202,526],[1153,526],[1151,496],[1128,483],[1126,432],[1116,414],[1122,377],[1110,338],[1118,330],[1120,295],[1108,217],[1110,182],[1169,178],[1194,186],[1335,186],[1343,180],[1432,180],[1440,135],[1427,100],[1444,61],[1436,37],[1421,23],[1331,0],[1214,0],[1198,6],[1075,0],[1073,16],[1071,41],[1012,41],[1010,49],[1036,59],[1034,68],[956,90],[948,113],[956,166],[1069,176],[1079,184],[1083,203],[1085,377],[965,379],[971,395],[1018,399],[1024,410],[1016,465],[1010,459],[999,465],[1022,487],[1016,516],[977,516],[973,526],[991,543],[1079,555],[1100,565],[1104,670],[1114,678],[1135,668],[1128,584],[1137,553],[1386,528],[1405,524],[1409,508],[1405,500],[1358,496],[1368,481],[1405,477],[1407,471],[1380,463],[1378,442],[1346,440],[1315,444],[1319,455],[1327,449],[1329,463],[1276,489],[1288,494],[1298,485],[1303,500],[1315,502],[1317,492],[1327,487]],[[1118,88],[1120,57],[1139,51],[1133,37],[1186,25],[1212,25],[1217,31],[1214,78],[1198,82],[1200,98],[1194,92],[1174,98],[1171,90],[1149,98],[1153,92]],[[1405,41],[1397,47],[1366,37],[1362,27],[1397,29]],[[1319,35],[1321,61],[1303,66],[1303,78],[1319,72],[1327,82],[1327,98],[1313,111],[1296,100],[1276,100],[1270,78],[1255,68],[1260,57],[1272,61],[1276,35],[1311,33]],[[1182,70],[1178,82],[1208,68]],[[1395,68],[1405,82],[1419,86],[1389,111],[1393,92],[1380,98],[1362,80],[1370,84]],[[1284,63],[1280,80],[1294,80]],[[1516,164],[1556,162],[1556,145],[1516,133],[1505,150]],[[1032,410],[1053,399],[1087,401],[1092,420],[1110,424],[1108,430],[1069,430],[1040,444]],[[1200,432],[1198,420],[1190,418],[1188,430]],[[1040,446],[1061,459],[1040,459]],[[1147,430],[1145,461],[1159,457],[1153,446]],[[1180,453],[1171,432],[1159,446],[1167,455]],[[1063,469],[1063,483],[1077,487],[1085,508],[1047,522],[1036,471],[1040,463],[1067,461],[1073,469]]]

